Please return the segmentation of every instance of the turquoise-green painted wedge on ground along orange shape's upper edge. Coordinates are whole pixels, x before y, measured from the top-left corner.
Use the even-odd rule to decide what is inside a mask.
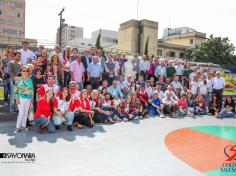
[[[236,127],[234,126],[195,126],[190,129],[236,141]]]

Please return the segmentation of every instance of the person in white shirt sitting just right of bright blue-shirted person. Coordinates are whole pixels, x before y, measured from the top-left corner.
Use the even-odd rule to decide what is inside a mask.
[[[170,114],[171,118],[176,118],[176,111],[178,109],[177,101],[172,98],[172,94],[170,92],[166,93],[166,97],[162,100],[162,103],[164,105],[164,113]]]

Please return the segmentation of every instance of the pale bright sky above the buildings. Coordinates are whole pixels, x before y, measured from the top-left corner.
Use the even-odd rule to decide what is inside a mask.
[[[66,23],[83,27],[84,37],[100,28],[118,31],[120,23],[137,19],[137,1],[26,0],[26,37],[55,40],[62,7]],[[235,0],[139,0],[138,18],[158,21],[158,38],[166,27],[187,26],[236,45]]]

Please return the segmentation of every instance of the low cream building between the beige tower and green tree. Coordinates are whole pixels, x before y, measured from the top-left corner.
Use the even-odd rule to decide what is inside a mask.
[[[206,33],[197,31],[183,34],[176,34],[163,38],[164,43],[182,45],[187,47],[200,46],[205,40],[206,40]]]

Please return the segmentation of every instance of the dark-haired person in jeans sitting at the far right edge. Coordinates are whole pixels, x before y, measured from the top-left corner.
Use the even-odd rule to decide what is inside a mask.
[[[216,118],[235,118],[235,102],[233,100],[232,96],[227,96],[225,103],[224,103],[224,109],[216,115]]]

